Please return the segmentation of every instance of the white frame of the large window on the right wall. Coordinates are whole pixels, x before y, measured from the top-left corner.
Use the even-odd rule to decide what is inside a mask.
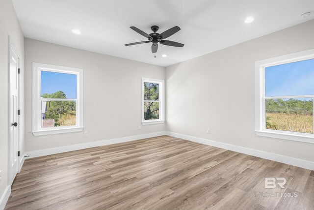
[[[314,59],[314,49],[279,56],[255,63],[255,133],[258,136],[314,143],[314,134],[266,129],[265,100],[269,98],[314,98],[314,95],[265,97],[265,68],[274,65]]]

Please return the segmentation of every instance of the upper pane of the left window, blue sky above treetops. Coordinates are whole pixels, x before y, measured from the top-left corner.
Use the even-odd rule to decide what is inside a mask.
[[[77,75],[41,71],[40,95],[43,98],[77,98]]]

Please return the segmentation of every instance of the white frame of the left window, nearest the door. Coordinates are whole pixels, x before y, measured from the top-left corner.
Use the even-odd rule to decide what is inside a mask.
[[[32,133],[34,136],[50,135],[57,133],[79,132],[83,130],[83,69],[71,68],[44,63],[32,63]],[[77,75],[77,99],[53,99],[54,101],[77,101],[76,109],[76,125],[42,128],[41,126],[41,104],[42,101],[51,101],[49,98],[42,98],[40,92],[41,71],[50,71],[57,73],[75,74]]]

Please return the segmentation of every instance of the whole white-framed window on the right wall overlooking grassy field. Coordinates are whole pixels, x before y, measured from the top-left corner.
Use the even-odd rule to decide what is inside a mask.
[[[256,133],[314,143],[314,50],[256,62]]]

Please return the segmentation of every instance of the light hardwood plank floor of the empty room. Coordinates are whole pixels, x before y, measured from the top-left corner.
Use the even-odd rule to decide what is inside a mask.
[[[161,136],[27,159],[5,209],[313,210],[314,171]]]

